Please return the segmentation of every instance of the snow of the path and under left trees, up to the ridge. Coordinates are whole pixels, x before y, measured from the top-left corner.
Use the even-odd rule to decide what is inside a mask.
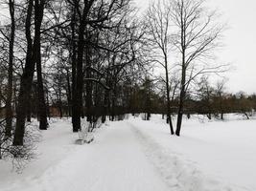
[[[168,190],[126,123],[98,129],[95,140],[85,145],[74,144],[70,127],[59,121],[43,132],[35,165],[22,175],[1,170],[0,190]]]

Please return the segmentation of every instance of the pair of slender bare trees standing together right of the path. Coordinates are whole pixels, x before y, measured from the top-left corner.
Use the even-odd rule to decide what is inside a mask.
[[[217,12],[205,9],[204,3],[203,0],[158,1],[147,12],[151,60],[165,71],[167,117],[171,134],[176,136],[180,135],[184,102],[195,80],[205,74],[227,70],[227,65],[213,62],[224,26],[216,20]],[[178,74],[179,86],[175,131],[170,109],[170,57],[176,63],[172,70]]]

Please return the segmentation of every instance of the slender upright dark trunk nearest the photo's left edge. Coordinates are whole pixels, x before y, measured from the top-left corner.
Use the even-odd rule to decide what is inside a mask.
[[[15,18],[14,18],[14,2],[9,0],[9,11],[11,15],[11,35],[9,45],[9,68],[8,68],[8,91],[6,102],[6,136],[12,135],[12,71],[13,71],[13,45],[14,45],[14,32],[15,32]]]

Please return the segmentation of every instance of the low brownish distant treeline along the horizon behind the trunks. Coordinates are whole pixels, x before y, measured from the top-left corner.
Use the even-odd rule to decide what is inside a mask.
[[[86,117],[87,114],[93,116],[93,118],[99,118],[108,116],[110,120],[122,119],[120,116],[125,114],[148,114],[150,119],[151,114],[163,114],[166,111],[166,98],[164,94],[156,93],[154,90],[149,90],[148,82],[144,84],[129,87],[125,92],[119,92],[117,98],[114,99],[114,105],[109,104],[109,108],[105,110],[105,107],[92,106],[90,109],[82,107],[82,116]],[[152,87],[152,86],[151,86]],[[213,90],[209,94],[200,89],[196,96],[188,96],[185,99],[184,115],[188,117],[192,114],[205,115],[209,119],[212,117],[218,117],[224,119],[224,114],[238,113],[249,118],[256,110],[256,95],[245,95],[243,92],[237,94],[227,94],[220,90]],[[32,96],[32,117],[38,117],[38,103],[36,96]],[[171,101],[171,112],[173,115],[177,114],[178,108],[178,96],[174,96]],[[102,100],[102,103],[104,100]],[[99,104],[99,103],[98,103]],[[52,104],[47,105],[48,117],[72,117],[71,107],[67,100],[53,99]],[[13,108],[13,111],[15,109]],[[5,117],[5,108],[1,108],[1,117]],[[15,114],[15,112],[14,112]]]

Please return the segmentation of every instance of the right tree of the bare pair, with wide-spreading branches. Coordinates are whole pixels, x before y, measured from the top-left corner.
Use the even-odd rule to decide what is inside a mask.
[[[223,66],[211,65],[213,51],[220,46],[223,25],[216,11],[208,11],[204,0],[174,0],[171,18],[174,23],[173,45],[181,70],[176,136],[180,135],[184,100],[191,82],[201,74],[220,73]]]

